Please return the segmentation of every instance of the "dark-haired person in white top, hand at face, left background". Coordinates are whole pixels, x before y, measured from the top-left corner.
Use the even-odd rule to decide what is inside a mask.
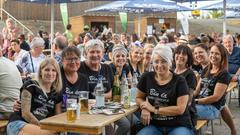
[[[20,48],[20,42],[16,39],[11,40],[11,49],[9,50],[8,58],[13,60],[16,65],[20,65],[20,60],[27,51]]]

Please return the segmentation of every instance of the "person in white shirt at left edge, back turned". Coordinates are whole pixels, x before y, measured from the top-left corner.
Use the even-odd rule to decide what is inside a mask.
[[[8,119],[19,98],[22,79],[13,61],[3,57],[0,46],[0,119]]]

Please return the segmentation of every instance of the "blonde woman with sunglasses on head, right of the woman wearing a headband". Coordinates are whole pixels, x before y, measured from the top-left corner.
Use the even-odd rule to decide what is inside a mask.
[[[138,77],[144,72],[143,64],[142,64],[142,58],[143,58],[143,46],[140,42],[135,42],[132,44],[132,47],[129,51],[129,66],[132,75],[134,73],[138,74]]]

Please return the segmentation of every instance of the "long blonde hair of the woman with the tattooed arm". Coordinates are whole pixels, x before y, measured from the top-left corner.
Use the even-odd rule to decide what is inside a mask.
[[[53,82],[52,87],[57,92],[60,92],[62,90],[62,76],[61,76],[59,65],[55,59],[46,58],[41,62],[38,73],[37,73],[37,80],[39,84],[43,84],[41,70],[45,68],[47,65],[52,65],[57,72],[56,80]]]

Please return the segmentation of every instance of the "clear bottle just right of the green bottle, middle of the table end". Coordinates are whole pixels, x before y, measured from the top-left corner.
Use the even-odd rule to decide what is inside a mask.
[[[126,77],[126,72],[123,71],[122,78],[121,78],[121,103],[125,109],[130,107],[130,90],[128,88],[128,81]]]

